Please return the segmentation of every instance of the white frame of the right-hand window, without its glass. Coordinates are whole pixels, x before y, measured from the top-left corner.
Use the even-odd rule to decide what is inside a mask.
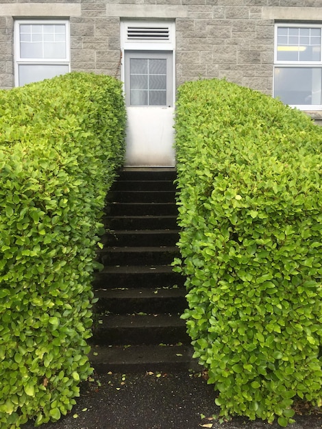
[[[280,27],[293,27],[293,28],[319,28],[321,29],[321,60],[320,61],[282,61],[277,60],[277,29]],[[275,97],[275,70],[277,68],[304,68],[304,69],[321,69],[322,70],[322,24],[313,23],[287,23],[281,22],[275,24],[274,34],[274,74],[273,74],[273,97]],[[299,83],[300,84],[300,83]],[[322,82],[321,82],[322,90]],[[276,96],[278,97],[278,95]],[[301,105],[290,105],[290,107],[298,108],[299,110],[322,110],[322,104],[301,104]]]

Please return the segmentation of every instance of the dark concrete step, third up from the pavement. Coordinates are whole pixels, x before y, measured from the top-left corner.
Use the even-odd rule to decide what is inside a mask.
[[[97,289],[94,291],[98,302],[95,304],[96,314],[117,312],[166,312],[183,313],[186,308],[186,289],[177,288],[136,288],[136,289]]]

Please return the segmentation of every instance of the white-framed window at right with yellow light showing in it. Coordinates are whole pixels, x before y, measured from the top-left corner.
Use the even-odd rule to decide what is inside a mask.
[[[274,97],[322,110],[322,25],[275,25]]]

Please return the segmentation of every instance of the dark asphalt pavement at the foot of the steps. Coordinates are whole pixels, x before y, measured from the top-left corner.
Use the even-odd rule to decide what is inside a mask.
[[[221,421],[216,392],[205,373],[106,373],[83,383],[68,415],[42,429],[280,429],[277,422],[234,417]],[[322,410],[295,407],[290,429],[321,429]],[[34,428],[33,422],[21,429]]]

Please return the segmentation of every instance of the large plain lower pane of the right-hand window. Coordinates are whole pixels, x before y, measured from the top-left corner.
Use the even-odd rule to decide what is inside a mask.
[[[274,96],[290,105],[321,104],[321,79],[321,69],[277,67]]]

